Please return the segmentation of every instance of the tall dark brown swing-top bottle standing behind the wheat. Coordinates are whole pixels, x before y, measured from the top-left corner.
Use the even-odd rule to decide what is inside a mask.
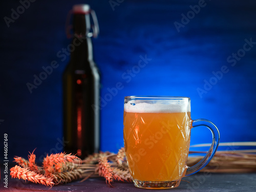
[[[63,73],[63,136],[68,142],[65,152],[80,158],[97,153],[100,147],[100,75],[93,61],[91,40],[98,32],[91,32],[91,11],[89,5],[73,7],[71,59]]]

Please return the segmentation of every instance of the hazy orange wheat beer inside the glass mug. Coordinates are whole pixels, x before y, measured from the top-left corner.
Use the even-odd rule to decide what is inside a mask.
[[[146,113],[140,108],[124,108],[125,153],[132,177],[140,181],[178,180],[189,150],[190,112],[172,106],[161,111],[159,104],[144,106]]]

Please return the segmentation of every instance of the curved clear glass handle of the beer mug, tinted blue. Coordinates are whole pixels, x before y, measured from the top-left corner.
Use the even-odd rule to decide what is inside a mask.
[[[216,153],[219,142],[220,142],[220,133],[217,126],[214,123],[208,121],[207,119],[197,119],[197,120],[193,120],[192,122],[193,127],[201,126],[201,125],[206,126],[211,131],[212,143],[206,156],[194,166],[187,168],[185,177],[197,173],[205,165],[207,165],[207,163],[211,160],[211,158],[214,157],[214,154]]]

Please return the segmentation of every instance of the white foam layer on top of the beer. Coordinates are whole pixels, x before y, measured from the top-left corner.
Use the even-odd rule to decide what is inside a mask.
[[[166,103],[145,103],[129,101],[124,104],[124,111],[128,113],[186,113],[190,112],[190,101],[166,101]]]

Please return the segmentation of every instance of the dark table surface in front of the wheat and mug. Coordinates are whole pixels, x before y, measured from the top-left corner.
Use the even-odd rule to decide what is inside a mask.
[[[136,188],[133,183],[115,181],[109,187],[103,178],[90,178],[86,181],[75,181],[68,184],[58,184],[52,188],[44,185],[24,182],[18,179],[8,179],[8,188],[4,187],[4,177],[1,175],[0,191],[146,191],[146,189]],[[148,190],[150,191],[150,190]],[[180,186],[173,189],[151,190],[151,191],[256,191],[256,173],[250,174],[211,174],[197,173],[185,177]]]

